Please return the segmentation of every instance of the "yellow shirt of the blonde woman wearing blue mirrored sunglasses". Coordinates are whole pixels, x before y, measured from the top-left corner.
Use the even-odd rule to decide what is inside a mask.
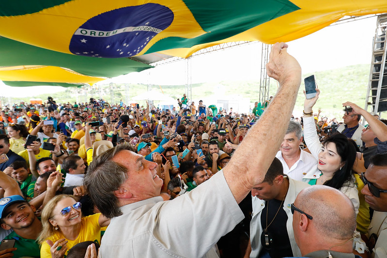
[[[67,251],[65,252],[65,256],[67,256],[68,251],[76,245],[77,243],[85,242],[85,241],[93,241],[98,244],[101,244],[101,227],[98,224],[99,215],[101,213],[96,213],[87,217],[83,217],[81,221],[81,228],[78,237],[75,240],[66,239],[61,230],[58,230],[56,234],[49,237],[47,240],[51,240],[53,243],[58,241],[59,239],[66,239],[67,242]],[[46,241],[42,243],[42,247],[40,249],[40,257],[41,258],[51,258],[50,246]]]

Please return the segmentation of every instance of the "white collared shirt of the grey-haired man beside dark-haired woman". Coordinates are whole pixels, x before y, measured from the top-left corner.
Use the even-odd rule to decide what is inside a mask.
[[[290,168],[283,159],[281,151],[277,152],[276,158],[282,163],[283,173],[291,179],[298,181],[302,181],[302,178],[317,165],[317,159],[309,152],[303,150],[301,150],[299,159]]]

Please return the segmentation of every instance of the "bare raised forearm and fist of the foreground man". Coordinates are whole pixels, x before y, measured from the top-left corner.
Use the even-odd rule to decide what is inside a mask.
[[[287,45],[284,43],[276,43],[272,47],[266,68],[268,76],[279,82],[279,91],[223,169],[224,177],[238,203],[255,185],[263,181],[285,136],[301,83],[301,67],[287,53]],[[253,159],[251,150],[256,150]]]

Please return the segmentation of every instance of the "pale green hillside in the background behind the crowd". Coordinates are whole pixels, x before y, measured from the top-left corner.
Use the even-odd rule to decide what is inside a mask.
[[[340,117],[342,116],[341,103],[345,101],[355,102],[359,106],[364,106],[366,90],[369,78],[369,64],[358,64],[343,67],[340,69],[327,70],[321,72],[315,72],[314,75],[317,80],[317,84],[322,91],[320,99],[316,105],[323,109],[323,113],[328,117]],[[311,74],[304,74],[305,78]],[[225,92],[225,95],[238,94],[244,98],[250,99],[253,103],[259,97],[259,81],[219,81],[217,83],[199,83],[192,85],[192,99],[197,100],[201,97],[211,96],[216,94],[217,89]],[[114,103],[119,103],[120,99],[125,100],[125,86],[124,84],[112,84],[112,91],[114,92]],[[102,97],[111,102],[110,86],[101,86]],[[160,89],[164,94],[173,98],[181,98],[185,92],[184,85],[154,85],[153,89]],[[270,95],[274,95],[277,91],[277,82],[270,80]],[[298,92],[295,112],[302,112],[304,95],[302,90],[304,85],[302,83],[300,91]],[[129,84],[129,96],[133,97],[140,93],[147,91],[147,85]],[[85,102],[93,95],[94,98],[99,98],[99,91],[97,88],[87,88],[87,95],[85,95],[84,89],[66,89],[65,91],[49,94],[57,103],[74,103],[77,100],[79,102]],[[30,98],[47,99],[48,94],[38,94],[31,96]],[[30,98],[14,98],[12,101],[17,103],[19,101],[28,101]],[[140,102],[141,105],[145,102]]]

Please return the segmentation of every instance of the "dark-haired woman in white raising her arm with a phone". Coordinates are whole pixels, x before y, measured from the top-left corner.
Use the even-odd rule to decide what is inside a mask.
[[[304,102],[304,139],[310,153],[318,160],[317,169],[302,179],[311,185],[324,184],[343,192],[359,209],[359,197],[352,167],[356,159],[355,146],[340,133],[332,134],[320,143],[313,118],[312,107],[316,104],[320,90],[314,98]],[[305,91],[304,91],[305,93]]]

